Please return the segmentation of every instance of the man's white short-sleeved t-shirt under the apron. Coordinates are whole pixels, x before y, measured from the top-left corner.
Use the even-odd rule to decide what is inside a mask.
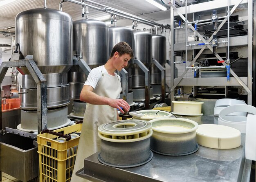
[[[93,88],[93,90],[97,87],[97,84],[99,83],[99,80],[101,79],[102,77],[102,73],[105,73],[105,74],[108,74],[108,71],[106,70],[106,68],[104,67],[104,65],[102,66],[99,66],[97,68],[93,68],[88,77],[87,77],[87,80],[85,81],[84,85],[89,85]],[[120,76],[117,75],[118,79],[120,79]],[[119,99],[120,96],[117,98]]]

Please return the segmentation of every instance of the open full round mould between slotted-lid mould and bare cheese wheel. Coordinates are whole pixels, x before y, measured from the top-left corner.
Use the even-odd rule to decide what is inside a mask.
[[[184,156],[198,150],[195,130],[198,123],[184,118],[158,118],[150,121],[153,135],[150,149],[167,156]]]

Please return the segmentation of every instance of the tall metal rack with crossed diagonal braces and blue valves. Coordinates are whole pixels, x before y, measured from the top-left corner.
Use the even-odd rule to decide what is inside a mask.
[[[234,11],[237,9],[238,6],[243,5],[243,7],[247,7],[247,14],[243,12],[243,15],[246,17],[245,21],[248,21],[247,26],[247,35],[241,35],[241,36],[229,36],[229,17],[234,13]],[[202,36],[196,26],[199,24],[206,24],[208,23],[214,23],[212,19],[206,19],[206,20],[196,20],[195,13],[201,12],[203,7],[204,14],[209,12],[209,15],[211,16],[211,11],[215,9],[225,9],[225,16],[220,17],[219,21],[220,24],[218,27],[216,27],[216,30],[212,33],[211,37],[209,36],[208,39],[205,39],[204,36]],[[229,7],[230,11],[229,11]],[[185,14],[185,16],[184,16]],[[193,14],[193,21],[189,22],[187,19],[187,15]],[[222,13],[223,14],[223,13]],[[245,14],[245,15],[244,15]],[[253,27],[252,27],[252,15],[253,15],[253,2],[248,0],[214,0],[209,2],[202,2],[198,4],[190,4],[187,5],[187,1],[184,5],[184,7],[175,7],[175,0],[171,1],[171,46],[170,46],[170,58],[171,58],[171,100],[175,100],[175,90],[179,86],[191,86],[193,87],[194,96],[197,92],[198,87],[200,86],[221,86],[225,88],[225,96],[227,96],[227,90],[228,87],[236,86],[244,89],[247,92],[247,103],[249,105],[252,105],[252,35],[253,35]],[[190,16],[191,17],[191,16]],[[207,17],[207,16],[206,16]],[[181,18],[181,20],[184,21],[184,29],[186,31],[186,44],[184,42],[182,43],[175,43],[175,29],[177,31],[180,31],[181,28],[175,28],[175,18]],[[205,17],[199,17],[201,19],[205,19]],[[221,20],[220,20],[221,19]],[[240,22],[244,21],[242,18],[239,20]],[[202,22],[202,23],[201,23]],[[227,22],[227,37],[224,38],[216,38],[216,34],[221,30],[222,26],[225,25]],[[180,27],[180,24],[179,24]],[[187,43],[187,29],[191,29],[196,37],[198,37],[197,40]],[[214,41],[218,42],[218,46],[213,44]],[[194,71],[196,69],[201,68],[212,68],[211,66],[195,66],[192,67],[194,63],[199,63],[198,58],[202,54],[211,54],[214,51],[214,48],[226,48],[226,60],[223,61],[223,56],[221,57],[217,52],[215,53],[216,59],[218,59],[223,66],[216,66],[216,68],[227,68],[227,78],[225,77],[211,77],[211,78],[202,78],[202,77],[194,77],[194,78],[184,78],[184,75],[188,72],[188,70],[193,69]],[[247,77],[238,77],[238,75],[230,68],[230,60],[229,60],[229,46],[233,47],[241,47],[245,48],[243,51],[247,51]],[[198,52],[197,49],[200,49]],[[175,71],[175,52],[176,51],[184,51],[186,50],[186,59],[184,60],[184,63],[186,63],[185,71],[179,78],[174,78],[173,72]],[[197,54],[196,51],[197,50]],[[193,59],[188,64],[188,51],[193,51]],[[241,56],[243,57],[243,56]],[[182,61],[181,61],[182,62]],[[188,66],[187,66],[188,65]],[[229,77],[229,72],[233,75],[233,77]],[[172,105],[173,106],[173,105]],[[172,107],[173,108],[173,107]]]

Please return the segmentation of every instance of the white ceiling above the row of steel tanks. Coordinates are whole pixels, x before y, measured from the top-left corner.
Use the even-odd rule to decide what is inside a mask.
[[[28,9],[43,8],[43,4],[44,4],[43,0],[7,0],[7,1],[12,1],[12,2],[2,6],[0,5],[0,29],[4,29],[10,26],[15,26],[15,17],[18,13]],[[162,11],[157,7],[153,6],[152,4],[146,2],[145,0],[93,0],[93,1],[103,4],[105,6],[109,6],[115,9],[119,9],[121,11],[125,11],[133,15],[138,15],[141,18],[154,21],[154,22],[158,20],[164,20],[164,19],[170,18],[170,10]],[[162,0],[162,1],[165,3],[169,2],[169,0]],[[47,0],[47,8],[59,9],[59,2],[60,0]],[[95,4],[92,4],[92,5],[99,7]],[[103,7],[100,7],[100,8],[103,8]],[[81,17],[82,10],[81,10],[81,5],[79,4],[64,2],[63,11],[66,13],[69,13],[72,16],[74,21],[82,19]],[[88,8],[88,11],[89,11],[90,19],[97,19],[99,17],[109,15],[108,13],[104,13],[102,11],[98,11],[92,8]],[[118,18],[119,17],[117,17],[117,19]],[[130,21],[132,24],[132,20]]]

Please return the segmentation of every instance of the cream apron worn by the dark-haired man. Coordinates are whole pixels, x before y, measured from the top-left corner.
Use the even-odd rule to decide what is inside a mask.
[[[102,73],[102,72],[101,72]],[[99,96],[117,99],[121,92],[121,82],[117,75],[102,73],[97,87],[93,91]],[[109,105],[92,105],[87,103],[83,118],[82,132],[79,140],[76,162],[71,182],[87,182],[76,175],[76,171],[84,167],[84,159],[100,151],[98,127],[103,123],[117,120],[116,108]]]

